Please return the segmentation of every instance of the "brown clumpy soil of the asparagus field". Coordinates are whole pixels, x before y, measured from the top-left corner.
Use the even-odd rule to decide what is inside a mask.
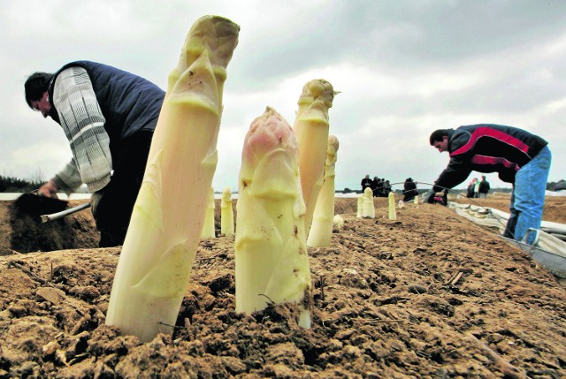
[[[389,220],[375,204],[364,219],[337,199],[344,227],[309,248],[312,329],[291,306],[235,313],[233,237],[220,236],[200,244],[174,334],[141,344],[104,325],[120,248],[96,248],[89,211],[41,224],[0,201],[0,378],[566,377],[556,277],[449,208]],[[545,220],[566,223],[565,207],[547,198]]]

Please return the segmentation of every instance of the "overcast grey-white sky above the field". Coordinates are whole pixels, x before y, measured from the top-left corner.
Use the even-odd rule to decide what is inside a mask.
[[[88,59],[165,88],[195,19],[218,14],[241,26],[227,70],[218,192],[237,189],[251,121],[269,105],[292,125],[302,86],[313,79],[340,91],[329,111],[330,133],[340,141],[337,189],[358,189],[365,174],[432,183],[448,155],[429,145],[430,133],[479,123],[539,134],[553,153],[548,180],[566,178],[563,0],[0,4],[0,175],[48,179],[71,158],[60,126],[27,107],[28,75]],[[487,178],[509,187],[496,174]]]

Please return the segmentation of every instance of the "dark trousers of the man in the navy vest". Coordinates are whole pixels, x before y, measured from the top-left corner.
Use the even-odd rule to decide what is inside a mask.
[[[118,156],[112,156],[111,181],[93,194],[93,216],[100,231],[100,247],[119,246],[126,231],[135,200],[142,186],[153,132],[141,131],[121,142]]]

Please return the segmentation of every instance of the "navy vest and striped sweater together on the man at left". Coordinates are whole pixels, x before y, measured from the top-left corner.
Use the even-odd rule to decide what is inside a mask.
[[[112,157],[139,130],[153,130],[164,91],[105,64],[78,61],[55,73],[48,90],[51,117],[65,132],[73,159],[52,178],[71,193],[82,183],[96,192],[111,180]]]

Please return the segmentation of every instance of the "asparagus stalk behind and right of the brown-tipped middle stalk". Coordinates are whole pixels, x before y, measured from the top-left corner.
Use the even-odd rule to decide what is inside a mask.
[[[318,193],[317,206],[312,217],[307,246],[329,247],[333,236],[334,218],[334,178],[336,177],[336,159],[338,152],[338,138],[328,136],[325,162],[325,182]]]

